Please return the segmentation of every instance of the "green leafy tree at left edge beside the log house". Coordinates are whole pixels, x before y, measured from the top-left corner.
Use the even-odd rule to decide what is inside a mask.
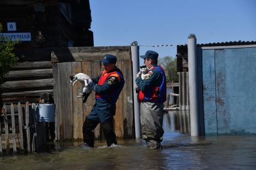
[[[0,32],[2,32],[2,25],[0,23]],[[4,75],[6,75],[10,68],[13,67],[18,57],[13,53],[14,45],[19,41],[12,41],[0,35],[0,84],[4,83]]]

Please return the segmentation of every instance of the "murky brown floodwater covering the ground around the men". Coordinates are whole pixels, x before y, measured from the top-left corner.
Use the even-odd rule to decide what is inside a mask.
[[[165,114],[162,150],[141,139],[118,140],[112,148],[105,141],[95,148],[66,142],[44,153],[1,156],[0,169],[256,169],[255,135],[192,138],[188,123],[186,112]]]

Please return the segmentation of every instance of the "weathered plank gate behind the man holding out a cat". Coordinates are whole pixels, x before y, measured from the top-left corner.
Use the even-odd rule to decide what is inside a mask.
[[[82,84],[72,86],[69,76],[84,72],[96,77],[103,71],[102,63],[105,54],[117,56],[117,66],[123,72],[126,83],[117,101],[114,116],[115,133],[119,138],[133,138],[133,93],[132,61],[129,47],[76,47],[58,49],[52,53],[54,97],[56,104],[56,131],[58,139],[82,139],[82,125],[95,103],[95,93],[91,93],[87,102],[82,103],[78,93]],[[59,63],[61,62],[61,63]],[[101,138],[100,125],[95,129],[96,138]]]

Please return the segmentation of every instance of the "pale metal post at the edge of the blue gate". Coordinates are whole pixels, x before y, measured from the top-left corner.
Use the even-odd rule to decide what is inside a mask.
[[[191,136],[199,136],[198,74],[197,74],[197,38],[195,34],[187,37],[189,60],[189,110]]]

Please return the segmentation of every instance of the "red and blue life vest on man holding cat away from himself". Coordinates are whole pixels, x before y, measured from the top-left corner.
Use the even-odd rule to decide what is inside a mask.
[[[100,79],[98,84],[103,85],[109,77],[116,77],[118,82],[120,82],[120,86],[117,89],[114,89],[112,92],[109,93],[97,93],[96,92],[96,99],[102,99],[111,103],[117,102],[118,96],[121,93],[121,90],[124,86],[124,77],[121,71],[113,71],[113,72],[106,72],[103,71],[102,75],[100,75]]]

